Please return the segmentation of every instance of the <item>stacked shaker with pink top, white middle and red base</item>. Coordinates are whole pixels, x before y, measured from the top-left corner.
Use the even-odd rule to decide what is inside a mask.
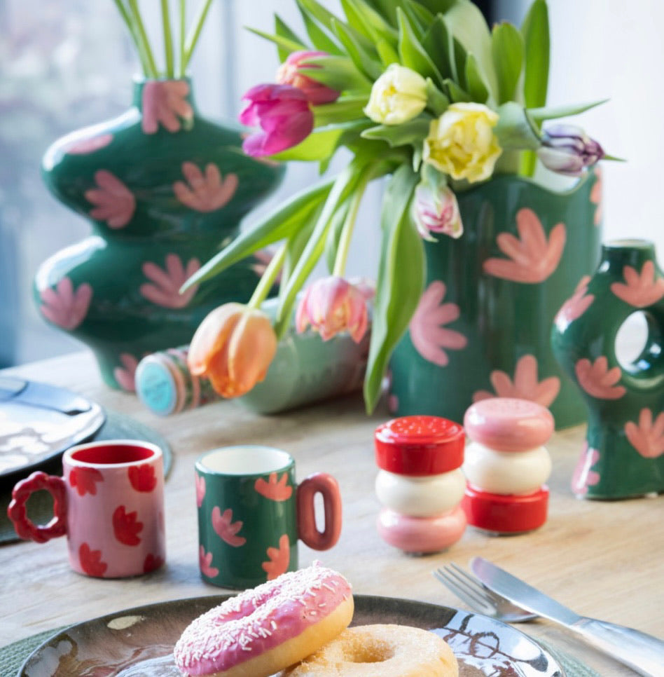
[[[553,434],[551,412],[525,399],[484,399],[466,411],[464,428],[471,439],[463,465],[468,524],[494,535],[542,526],[551,474],[543,445]]]

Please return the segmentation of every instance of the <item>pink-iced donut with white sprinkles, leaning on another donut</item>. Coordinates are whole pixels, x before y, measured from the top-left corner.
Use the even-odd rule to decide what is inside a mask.
[[[284,573],[199,616],[175,645],[183,675],[269,677],[345,629],[350,584],[318,563]]]

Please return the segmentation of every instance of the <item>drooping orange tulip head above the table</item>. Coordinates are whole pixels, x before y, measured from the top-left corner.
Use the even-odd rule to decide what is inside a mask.
[[[277,335],[265,313],[225,303],[195,331],[188,353],[194,376],[207,376],[222,397],[240,397],[268,373],[277,352]]]

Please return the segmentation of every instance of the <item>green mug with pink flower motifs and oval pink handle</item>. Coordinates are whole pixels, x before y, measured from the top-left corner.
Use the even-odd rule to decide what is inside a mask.
[[[324,530],[314,497],[323,498]],[[227,446],[196,461],[198,554],[203,580],[244,589],[298,568],[298,540],[326,550],[339,540],[336,479],[314,473],[299,485],[293,457],[270,446]]]

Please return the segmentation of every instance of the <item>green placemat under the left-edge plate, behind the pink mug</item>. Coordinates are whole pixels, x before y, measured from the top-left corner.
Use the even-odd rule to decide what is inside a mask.
[[[166,477],[173,465],[173,453],[166,440],[158,432],[139,423],[137,420],[125,416],[115,411],[105,411],[106,421],[104,425],[90,438],[90,442],[97,442],[103,439],[141,439],[144,442],[152,442],[161,447],[164,454],[164,472]],[[62,463],[60,458],[50,460],[39,468],[48,474],[62,475]],[[25,477],[34,472],[31,468],[26,472]],[[20,478],[18,478],[20,479]],[[3,481],[0,484],[0,544],[20,540],[14,531],[11,520],[7,517],[7,507],[11,501],[11,490],[18,481]],[[28,511],[30,518],[36,524],[46,524],[53,517],[53,500],[46,491],[38,491],[29,499]],[[0,672],[4,677],[5,673]]]

